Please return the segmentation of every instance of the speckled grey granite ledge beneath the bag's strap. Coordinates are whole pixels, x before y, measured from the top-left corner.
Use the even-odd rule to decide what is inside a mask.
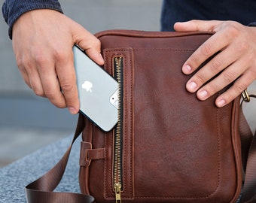
[[[71,144],[73,135],[56,141],[23,159],[0,168],[0,202],[26,203],[24,188],[56,165]],[[78,183],[80,141],[75,142],[66,174],[56,188],[58,192],[80,192]]]

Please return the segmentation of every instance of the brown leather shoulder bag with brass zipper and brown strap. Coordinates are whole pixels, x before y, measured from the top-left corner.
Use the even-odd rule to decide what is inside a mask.
[[[80,115],[74,141],[82,132],[80,185],[86,195],[51,192],[70,147],[51,171],[26,186],[28,202],[236,202],[243,182],[240,135],[248,135],[242,140],[245,162],[252,138],[240,98],[224,108],[215,106],[221,92],[200,102],[185,89],[191,76],[181,72],[211,35],[98,33],[104,68],[120,84],[117,126],[102,132]],[[250,163],[241,202],[254,202]]]

